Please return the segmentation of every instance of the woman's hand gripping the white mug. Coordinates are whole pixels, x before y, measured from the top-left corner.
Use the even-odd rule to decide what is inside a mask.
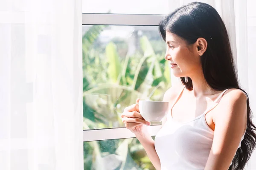
[[[146,121],[141,115],[139,110],[139,101],[136,100],[136,104],[128,106],[122,113],[122,122],[125,123],[125,127],[133,133],[141,133],[145,125],[151,125],[150,122]]]

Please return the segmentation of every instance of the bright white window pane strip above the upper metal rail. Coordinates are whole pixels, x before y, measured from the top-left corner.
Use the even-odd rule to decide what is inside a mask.
[[[181,1],[182,2],[182,1]],[[83,13],[169,14],[177,0],[83,0]]]

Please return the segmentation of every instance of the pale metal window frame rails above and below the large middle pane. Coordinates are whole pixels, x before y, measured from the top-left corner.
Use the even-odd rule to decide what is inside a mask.
[[[146,14],[82,14],[82,25],[117,25],[117,26],[158,26],[164,15]],[[161,125],[147,126],[151,136],[155,136]],[[83,130],[84,142],[135,138],[134,133],[125,127]]]

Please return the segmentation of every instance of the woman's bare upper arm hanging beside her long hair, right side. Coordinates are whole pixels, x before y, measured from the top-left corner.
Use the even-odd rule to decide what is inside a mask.
[[[238,89],[226,92],[214,115],[215,130],[205,170],[228,170],[247,125],[247,97]]]

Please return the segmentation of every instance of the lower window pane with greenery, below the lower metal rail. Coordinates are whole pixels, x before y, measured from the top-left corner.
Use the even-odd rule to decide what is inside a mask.
[[[155,170],[136,138],[84,142],[84,170],[119,170],[121,167],[123,170]]]

